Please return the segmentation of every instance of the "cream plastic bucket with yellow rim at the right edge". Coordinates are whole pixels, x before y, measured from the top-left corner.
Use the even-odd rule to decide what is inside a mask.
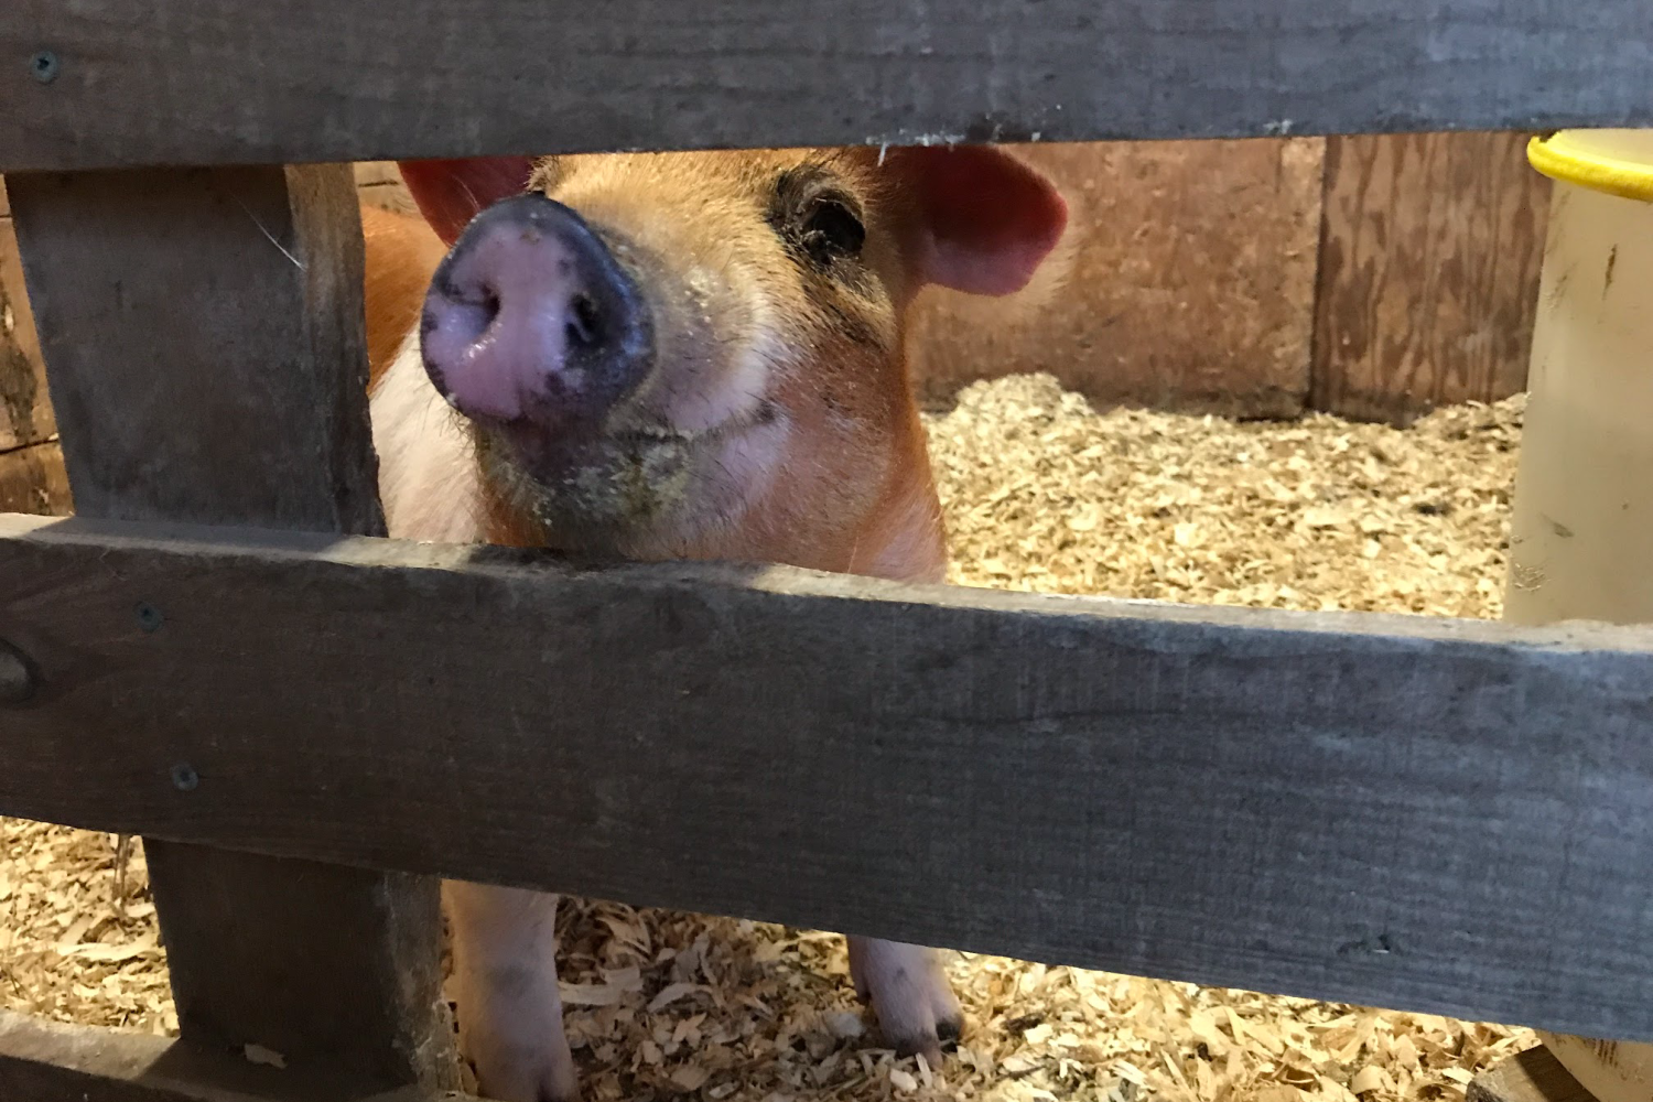
[[[1653,131],[1560,131],[1527,159],[1555,192],[1504,618],[1653,623]],[[1653,1102],[1653,1044],[1544,1043],[1600,1102]]]

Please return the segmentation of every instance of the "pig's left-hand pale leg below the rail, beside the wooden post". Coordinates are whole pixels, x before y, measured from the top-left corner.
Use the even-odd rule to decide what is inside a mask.
[[[557,897],[448,881],[460,1049],[481,1094],[575,1102],[574,1056],[557,993]]]

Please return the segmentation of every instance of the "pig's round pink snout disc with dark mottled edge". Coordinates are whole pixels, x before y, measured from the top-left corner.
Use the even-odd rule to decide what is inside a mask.
[[[425,370],[483,423],[595,423],[653,362],[648,304],[574,210],[517,195],[479,213],[448,251],[420,322]]]

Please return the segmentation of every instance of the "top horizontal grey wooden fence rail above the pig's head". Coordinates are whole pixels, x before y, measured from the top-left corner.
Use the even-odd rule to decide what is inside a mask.
[[[8,0],[0,172],[1653,124],[1646,0]]]

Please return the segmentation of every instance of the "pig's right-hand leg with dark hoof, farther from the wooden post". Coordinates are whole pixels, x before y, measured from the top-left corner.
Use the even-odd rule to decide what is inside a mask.
[[[959,1039],[964,1011],[936,950],[851,937],[850,976],[898,1052],[922,1052],[934,1066],[941,1046]]]

